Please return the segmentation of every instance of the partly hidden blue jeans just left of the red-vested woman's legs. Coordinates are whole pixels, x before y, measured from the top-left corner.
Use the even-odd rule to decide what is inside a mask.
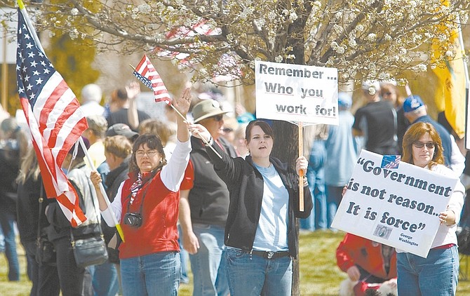
[[[114,264],[105,262],[100,265],[89,267],[93,295],[95,296],[114,296],[119,290],[117,271]]]

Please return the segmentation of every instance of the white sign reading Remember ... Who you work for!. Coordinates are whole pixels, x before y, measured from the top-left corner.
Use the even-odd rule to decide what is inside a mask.
[[[337,69],[255,62],[256,116],[338,125]]]

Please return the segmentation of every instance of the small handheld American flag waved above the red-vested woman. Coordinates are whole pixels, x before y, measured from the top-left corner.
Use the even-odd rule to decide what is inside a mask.
[[[150,62],[147,55],[140,60],[139,65],[135,68],[134,76],[154,92],[155,102],[166,102],[170,104],[171,98],[168,90],[160,78],[159,72],[156,72],[154,65]]]

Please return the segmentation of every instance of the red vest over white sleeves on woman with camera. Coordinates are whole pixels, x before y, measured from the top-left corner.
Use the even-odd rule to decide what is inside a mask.
[[[145,177],[142,179],[145,183]],[[158,252],[179,251],[176,223],[180,206],[180,191],[168,190],[161,181],[159,172],[137,191],[137,196],[128,209],[130,186],[135,180],[136,175],[130,173],[130,178],[124,182],[122,189],[121,227],[126,242],[119,246],[119,257],[126,259]],[[126,213],[140,212],[142,199],[144,201],[141,213],[142,226],[137,228],[123,224]]]

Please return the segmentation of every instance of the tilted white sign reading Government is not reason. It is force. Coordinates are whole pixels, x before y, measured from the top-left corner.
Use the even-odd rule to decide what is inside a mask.
[[[331,226],[427,257],[458,180],[394,158],[361,152]]]

